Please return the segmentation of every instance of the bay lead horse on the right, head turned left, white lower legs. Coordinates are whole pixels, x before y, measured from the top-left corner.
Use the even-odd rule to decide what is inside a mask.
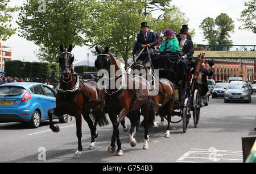
[[[108,107],[109,118],[113,124],[113,135],[111,144],[108,147],[108,151],[110,153],[115,152],[115,140],[117,140],[117,156],[123,155],[118,126],[119,123],[125,119],[125,117],[128,117],[131,122],[131,129],[129,134],[130,144],[132,147],[136,146],[137,142],[134,139],[134,128],[137,123],[137,117],[140,117],[138,114],[139,108],[141,108],[144,115],[143,149],[147,150],[149,148],[148,125],[150,123],[150,103],[148,102],[150,90],[148,89],[147,81],[138,76],[131,78],[127,76],[126,73],[122,73],[113,55],[109,52],[108,47],[105,47],[105,49],[102,50],[96,47],[96,52],[98,55],[95,61],[95,67],[98,70],[106,70],[107,73],[104,75],[108,76],[108,81],[106,84],[110,87],[112,83],[118,84],[118,82],[120,82],[121,84],[119,88],[117,88],[116,85],[113,89],[110,90],[105,88],[106,106]],[[112,76],[112,74],[114,75]],[[124,83],[125,85],[123,85]],[[138,88],[138,86],[140,88]]]

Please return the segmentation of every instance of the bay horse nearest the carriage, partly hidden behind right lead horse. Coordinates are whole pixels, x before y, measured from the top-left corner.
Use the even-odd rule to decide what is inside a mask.
[[[141,61],[140,63],[137,61],[134,61],[133,71],[138,69],[138,72],[140,73],[140,71],[142,69],[144,69],[146,71],[146,73],[148,74],[146,62],[147,62],[147,60]],[[146,76],[146,78],[147,77],[148,76]],[[157,78],[157,77],[155,77],[155,78]],[[151,78],[150,78],[150,80],[151,80]],[[166,134],[164,135],[164,137],[170,138],[170,130],[169,129],[170,129],[172,112],[174,111],[175,86],[174,86],[174,84],[172,84],[172,82],[170,80],[167,80],[166,78],[160,78],[156,82],[157,82],[156,85],[158,85],[159,92],[155,96],[152,96],[151,100],[155,101],[159,105],[151,106],[152,111],[150,112],[150,114],[151,114],[150,117],[154,118],[155,114],[160,115],[160,117],[161,117],[160,125],[163,127],[166,127],[166,123],[164,122],[164,117],[167,115],[168,125],[167,125],[167,131],[166,131]],[[159,126],[156,125],[154,122],[154,127],[159,127]]]

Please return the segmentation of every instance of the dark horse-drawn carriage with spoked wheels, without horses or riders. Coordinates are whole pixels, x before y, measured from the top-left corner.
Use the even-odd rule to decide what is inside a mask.
[[[150,55],[148,54],[148,57],[150,57]],[[175,89],[176,89],[176,95],[174,98],[174,108],[172,111],[172,117],[174,116],[178,116],[181,117],[181,119],[179,121],[170,121],[171,123],[179,123],[182,121],[183,123],[183,132],[187,132],[188,130],[188,123],[189,123],[189,119],[191,118],[191,111],[192,111],[192,115],[193,115],[193,123],[194,126],[197,127],[198,123],[199,123],[199,118],[200,118],[200,107],[201,107],[201,101],[200,101],[200,93],[198,89],[195,89],[195,81],[197,80],[199,71],[200,71],[200,67],[201,64],[203,63],[203,59],[204,59],[204,54],[201,53],[197,60],[195,61],[194,64],[196,64],[195,67],[195,73],[194,76],[192,78],[192,74],[191,74],[191,69],[189,69],[188,74],[187,74],[187,82],[183,82],[183,84],[179,84],[177,78],[174,78],[174,76],[179,76],[177,73],[179,73],[179,71],[176,69],[175,71],[172,69],[160,69],[158,70],[158,76],[159,79],[161,78],[167,78],[168,80],[170,80],[172,83],[174,83],[175,85]],[[149,59],[150,60],[150,59]],[[139,65],[141,67],[143,67],[142,65],[145,64],[146,62],[140,63]],[[179,67],[180,61],[177,61],[177,65],[176,68]],[[135,66],[138,66],[136,64],[136,61],[134,61]],[[151,73],[155,74],[155,70],[154,67],[152,66],[151,61],[147,62],[147,66],[148,68],[151,69]],[[130,67],[134,67],[134,65],[131,65]],[[144,67],[146,68],[146,67]],[[181,88],[184,88],[185,85],[185,98],[181,98],[180,96],[180,90]],[[166,118],[166,115],[163,116],[163,118]],[[163,121],[163,118],[161,119],[161,121]],[[168,120],[168,119],[167,119]],[[162,125],[162,124],[159,124]],[[137,124],[137,130],[139,127],[139,121]]]

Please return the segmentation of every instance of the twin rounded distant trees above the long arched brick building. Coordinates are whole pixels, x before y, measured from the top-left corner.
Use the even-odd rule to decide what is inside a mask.
[[[233,44],[230,40],[230,32],[234,32],[234,21],[227,14],[221,13],[215,19],[205,18],[200,24],[203,30],[204,41],[208,44]]]

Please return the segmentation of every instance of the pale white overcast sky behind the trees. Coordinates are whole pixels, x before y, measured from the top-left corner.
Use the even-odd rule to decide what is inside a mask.
[[[47,1],[47,0],[46,0]],[[23,0],[11,0],[10,6],[22,6]],[[207,44],[203,42],[203,34],[200,30],[200,23],[207,18],[216,18],[221,13],[228,14],[235,24],[234,33],[231,33],[231,40],[236,45],[256,45],[255,36],[252,31],[238,30],[241,23],[237,21],[240,18],[241,11],[245,9],[244,0],[172,0],[171,5],[180,7],[181,11],[189,18],[188,27],[195,28],[196,35],[192,38],[193,43]],[[15,20],[18,20],[18,12],[13,13],[13,26],[18,28]],[[156,13],[155,15],[158,15]],[[24,38],[18,36],[19,32],[11,36],[10,39],[3,42],[3,45],[10,46],[13,51],[13,60],[39,61],[36,58],[35,51],[39,49],[33,42],[28,42]],[[88,47],[75,47],[72,51],[75,55],[76,62],[88,59],[94,61],[95,56],[90,52]]]

